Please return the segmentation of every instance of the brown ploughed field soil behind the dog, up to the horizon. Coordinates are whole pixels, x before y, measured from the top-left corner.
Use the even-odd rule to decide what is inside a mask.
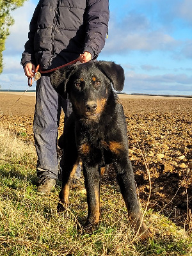
[[[150,191],[148,169],[152,184],[149,208],[192,229],[192,99],[125,95],[120,98],[141,202],[145,204]],[[22,140],[33,141],[34,109],[34,94],[0,93],[1,124]],[[63,115],[60,133],[62,127]],[[110,168],[108,172],[111,173]],[[108,182],[114,183],[114,179]]]

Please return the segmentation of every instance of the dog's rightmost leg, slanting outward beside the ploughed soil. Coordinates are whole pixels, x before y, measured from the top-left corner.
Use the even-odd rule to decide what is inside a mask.
[[[113,164],[116,171],[120,168],[122,169],[121,164]],[[136,195],[136,186],[134,182],[134,173],[132,170],[131,161],[127,159],[127,166],[124,168],[124,172],[117,174],[118,184],[122,196],[127,207],[129,219],[132,223],[132,226],[138,231],[138,234],[142,239],[145,239],[150,236],[150,232],[147,230],[147,227],[143,221],[143,215],[140,210],[140,203],[138,196]]]

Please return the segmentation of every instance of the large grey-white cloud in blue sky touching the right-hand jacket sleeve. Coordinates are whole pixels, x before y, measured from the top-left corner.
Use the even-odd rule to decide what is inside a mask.
[[[153,24],[143,14],[129,13],[121,22],[114,15],[109,20],[109,37],[103,53],[130,51],[170,51],[182,44],[175,40],[168,31],[154,29]]]

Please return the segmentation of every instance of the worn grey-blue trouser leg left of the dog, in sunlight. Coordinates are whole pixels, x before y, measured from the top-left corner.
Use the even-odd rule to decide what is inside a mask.
[[[52,88],[49,76],[42,76],[36,84],[36,105],[33,122],[38,177],[58,179],[56,152],[61,107],[58,93]]]

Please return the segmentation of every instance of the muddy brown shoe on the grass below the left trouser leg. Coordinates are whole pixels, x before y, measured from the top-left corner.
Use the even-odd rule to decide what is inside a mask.
[[[55,185],[55,179],[52,179],[50,177],[43,177],[38,182],[37,191],[38,193],[49,194],[51,193],[51,189],[53,189]]]

